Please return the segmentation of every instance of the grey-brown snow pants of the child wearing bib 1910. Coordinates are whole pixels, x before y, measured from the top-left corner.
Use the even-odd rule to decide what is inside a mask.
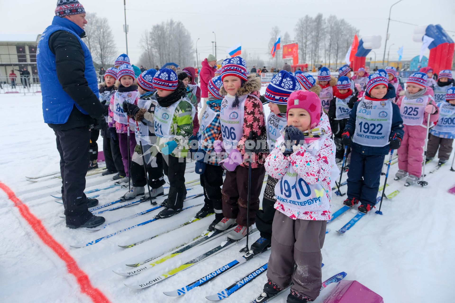
[[[293,220],[276,211],[267,278],[280,288],[292,282],[291,291],[311,300],[322,286],[322,254],[327,221]]]

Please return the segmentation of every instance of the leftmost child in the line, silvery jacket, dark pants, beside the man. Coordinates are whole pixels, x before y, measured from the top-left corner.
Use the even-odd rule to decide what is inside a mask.
[[[106,122],[112,123],[112,117],[108,114],[109,105],[111,104],[112,96],[116,93],[115,82],[117,80],[117,69],[110,67],[104,74],[104,82],[98,85],[100,91],[100,101],[105,106]],[[108,174],[115,174],[125,176],[125,169],[121,160],[120,148],[118,146],[117,133],[113,128],[113,135],[109,128],[102,131],[103,136],[103,153],[106,161],[106,170],[101,174],[103,176]],[[114,176],[115,177],[115,176]],[[119,178],[120,179],[120,178]]]

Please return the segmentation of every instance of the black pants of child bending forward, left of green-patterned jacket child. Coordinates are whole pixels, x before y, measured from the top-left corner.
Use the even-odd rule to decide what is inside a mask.
[[[166,183],[166,181],[164,181],[163,175],[163,157],[160,153],[158,153],[156,158],[158,167],[152,167],[151,164],[146,165],[148,185],[150,185],[152,189],[157,189]],[[130,176],[133,182],[133,186],[142,187],[147,185],[147,176],[144,172],[144,165],[131,161]]]

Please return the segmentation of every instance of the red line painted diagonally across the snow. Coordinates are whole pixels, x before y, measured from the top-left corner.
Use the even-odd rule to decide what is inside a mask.
[[[66,263],[68,272],[71,273],[77,280],[81,292],[85,293],[91,298],[94,303],[108,303],[109,299],[102,293],[98,288],[94,288],[86,273],[84,273],[79,266],[77,266],[76,260],[58,243],[50,233],[47,232],[41,220],[36,218],[34,214],[30,212],[27,205],[23,204],[19,198],[16,197],[14,192],[4,183],[0,182],[0,189],[8,195],[15,207],[19,209],[20,215],[30,224],[30,227],[40,237],[40,239],[56,253],[63,262]]]

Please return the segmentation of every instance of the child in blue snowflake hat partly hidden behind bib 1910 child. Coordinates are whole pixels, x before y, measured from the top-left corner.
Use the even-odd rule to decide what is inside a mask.
[[[302,75],[302,74],[300,74]],[[314,81],[314,79],[313,79]],[[314,81],[315,83],[316,81]],[[308,84],[307,84],[308,85]],[[317,86],[319,87],[319,85]],[[267,140],[269,150],[275,149],[276,140],[281,136],[280,132],[286,127],[286,108],[289,95],[300,89],[300,84],[285,70],[280,70],[276,74],[265,90],[264,98],[269,101],[268,107],[270,114],[267,117]],[[256,227],[261,233],[261,237],[251,245],[253,253],[260,253],[272,242],[272,222],[275,214],[273,205],[275,204],[275,185],[278,179],[271,175],[267,177],[267,184],[262,200],[262,209],[256,212]]]

